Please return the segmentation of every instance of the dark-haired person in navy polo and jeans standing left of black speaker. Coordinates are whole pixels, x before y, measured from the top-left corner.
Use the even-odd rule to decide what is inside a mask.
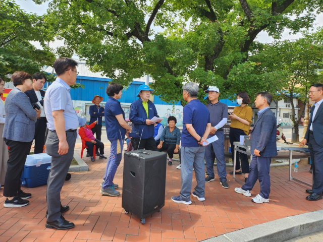
[[[118,99],[122,96],[123,86],[119,83],[110,83],[106,88],[109,99],[104,107],[104,120],[107,139],[111,142],[110,157],[106,163],[104,178],[101,182],[101,194],[107,196],[119,196],[116,191],[118,184],[113,183],[117,168],[122,159],[122,150],[125,135],[129,136],[131,128],[125,120],[125,112]]]

